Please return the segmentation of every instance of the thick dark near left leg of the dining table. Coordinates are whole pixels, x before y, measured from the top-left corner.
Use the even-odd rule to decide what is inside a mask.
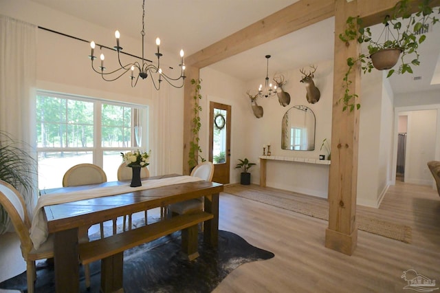
[[[54,235],[56,292],[79,292],[78,228]]]

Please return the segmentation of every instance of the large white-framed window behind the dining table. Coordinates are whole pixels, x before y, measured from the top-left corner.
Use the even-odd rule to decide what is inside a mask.
[[[146,151],[148,107],[38,91],[39,188],[62,186],[80,163],[97,164],[117,180],[121,152]]]

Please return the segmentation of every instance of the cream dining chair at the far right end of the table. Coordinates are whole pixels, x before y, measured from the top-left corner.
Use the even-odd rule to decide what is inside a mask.
[[[202,162],[192,169],[190,175],[199,177],[206,181],[212,181],[212,176],[214,175],[214,164],[208,161]],[[170,214],[168,216],[173,216],[173,214],[184,215],[197,210],[203,210],[203,207],[203,197],[199,197],[196,199],[186,200],[184,202],[177,202],[176,204],[170,204],[168,206],[167,213]]]

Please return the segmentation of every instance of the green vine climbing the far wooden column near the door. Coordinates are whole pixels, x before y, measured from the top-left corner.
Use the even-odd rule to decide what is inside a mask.
[[[190,152],[189,152],[189,160],[188,165],[190,166],[190,169],[194,168],[199,164],[199,158],[201,159],[201,162],[205,162],[206,160],[201,157],[201,155],[198,155],[198,153],[201,153],[201,147],[199,145],[199,131],[201,128],[201,122],[200,122],[200,115],[201,112],[201,106],[199,105],[199,100],[201,100],[201,79],[195,80],[192,78],[191,85],[195,85],[195,94],[192,96],[194,99],[194,108],[192,109],[193,118],[192,118],[192,124],[191,124],[191,133],[192,133],[192,140],[190,141]],[[197,155],[196,155],[197,154]]]

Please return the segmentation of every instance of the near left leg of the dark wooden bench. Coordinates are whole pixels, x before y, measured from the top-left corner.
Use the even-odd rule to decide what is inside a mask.
[[[123,266],[124,252],[101,260],[100,292],[124,292],[124,288],[122,287]]]

